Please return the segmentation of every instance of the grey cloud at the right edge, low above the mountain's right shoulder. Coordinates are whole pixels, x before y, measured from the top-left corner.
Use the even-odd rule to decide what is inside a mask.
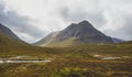
[[[122,13],[121,18],[123,20],[123,23],[120,22],[122,23],[121,26],[119,29],[116,29],[114,31],[106,30],[105,33],[113,37],[131,41],[132,40],[132,16],[131,15],[132,14]],[[114,25],[114,28],[117,25]]]

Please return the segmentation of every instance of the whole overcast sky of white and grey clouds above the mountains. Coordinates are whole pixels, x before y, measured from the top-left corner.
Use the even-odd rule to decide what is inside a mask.
[[[132,0],[0,0],[0,23],[28,43],[84,20],[109,36],[132,40]]]

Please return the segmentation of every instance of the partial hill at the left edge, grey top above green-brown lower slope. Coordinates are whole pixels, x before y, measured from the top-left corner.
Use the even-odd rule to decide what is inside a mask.
[[[0,47],[28,45],[21,41],[9,28],[0,24]]]

